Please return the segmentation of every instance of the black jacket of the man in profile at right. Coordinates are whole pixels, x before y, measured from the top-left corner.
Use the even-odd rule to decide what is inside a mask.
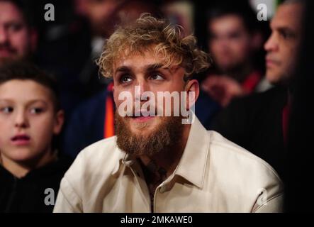
[[[235,99],[213,121],[213,130],[268,162],[284,178],[285,145],[282,111],[287,89]]]

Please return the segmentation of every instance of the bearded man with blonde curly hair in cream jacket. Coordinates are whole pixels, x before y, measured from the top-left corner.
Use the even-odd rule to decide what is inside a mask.
[[[276,172],[206,131],[191,111],[199,93],[191,76],[210,65],[193,35],[144,14],[116,29],[98,63],[103,76],[113,77],[116,136],[79,153],[55,212],[281,211]],[[178,109],[189,116],[176,115]]]

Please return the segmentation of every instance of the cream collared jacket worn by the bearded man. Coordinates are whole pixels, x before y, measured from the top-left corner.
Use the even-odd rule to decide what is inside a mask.
[[[196,118],[178,167],[157,187],[154,212],[280,212],[283,186],[259,157]],[[54,212],[150,212],[140,165],[116,137],[82,150],[61,181]]]

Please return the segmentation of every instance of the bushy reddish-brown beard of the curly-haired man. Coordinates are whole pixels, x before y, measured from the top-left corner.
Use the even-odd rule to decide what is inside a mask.
[[[155,116],[157,118],[158,116]],[[135,123],[135,127],[141,133],[133,133],[130,128],[132,117],[122,117],[116,111],[116,135],[117,145],[120,150],[130,155],[139,157],[141,155],[153,156],[162,152],[176,149],[183,135],[184,126],[181,116],[158,117],[161,121],[150,132],[145,132],[147,123]]]

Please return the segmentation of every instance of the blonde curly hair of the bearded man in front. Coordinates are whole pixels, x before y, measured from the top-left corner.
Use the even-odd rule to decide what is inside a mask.
[[[171,25],[143,13],[134,23],[119,26],[103,45],[101,57],[96,61],[104,77],[113,76],[113,63],[118,57],[143,53],[149,48],[162,58],[164,67],[180,65],[185,78],[203,72],[211,65],[211,57],[197,47],[194,35],[182,35],[182,27]]]

